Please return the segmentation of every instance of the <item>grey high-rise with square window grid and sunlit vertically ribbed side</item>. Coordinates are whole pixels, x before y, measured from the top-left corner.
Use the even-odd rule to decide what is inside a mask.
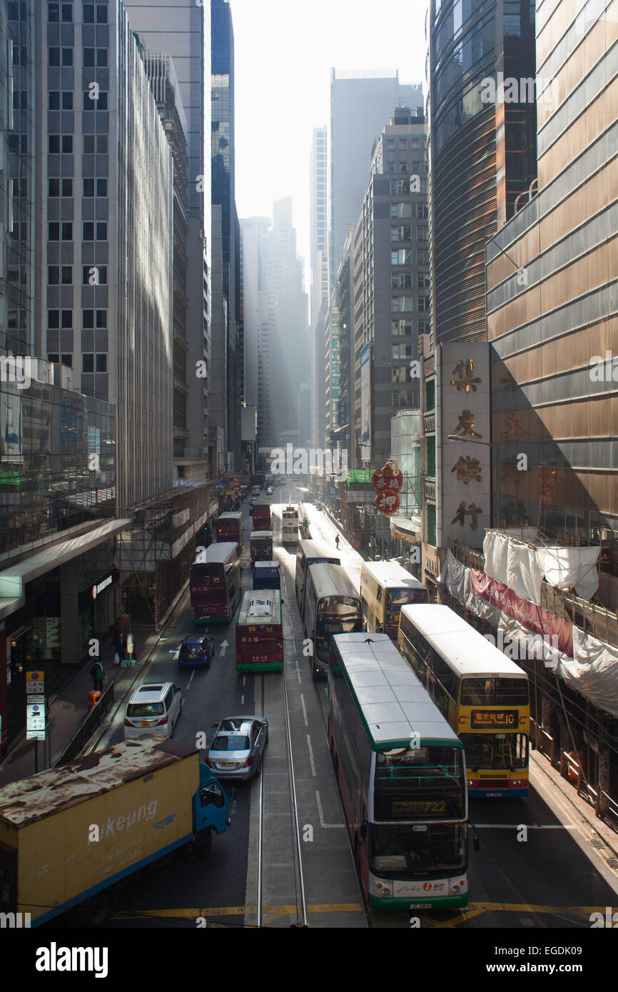
[[[173,482],[173,160],[126,12],[97,11],[38,7],[36,346],[116,407],[122,515]]]

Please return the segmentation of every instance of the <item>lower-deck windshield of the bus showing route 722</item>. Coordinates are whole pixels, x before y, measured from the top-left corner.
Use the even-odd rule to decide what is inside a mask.
[[[465,871],[466,827],[463,823],[369,825],[369,867],[384,875],[406,872]]]

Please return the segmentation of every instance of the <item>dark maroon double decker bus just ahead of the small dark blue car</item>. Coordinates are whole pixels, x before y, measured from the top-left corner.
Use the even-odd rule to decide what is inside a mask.
[[[204,560],[190,566],[189,587],[193,623],[229,623],[242,591],[237,542],[206,548]]]

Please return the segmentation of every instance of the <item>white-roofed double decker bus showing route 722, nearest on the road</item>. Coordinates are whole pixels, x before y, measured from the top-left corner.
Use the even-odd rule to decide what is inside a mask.
[[[466,906],[461,741],[387,634],[332,638],[328,698],[330,754],[369,907]]]

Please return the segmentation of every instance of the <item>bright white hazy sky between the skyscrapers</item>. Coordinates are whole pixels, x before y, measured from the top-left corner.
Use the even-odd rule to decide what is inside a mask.
[[[307,270],[311,133],[326,124],[330,67],[398,68],[401,82],[425,86],[425,0],[230,0],[230,6],[238,215],[271,217],[273,200],[292,195]]]

